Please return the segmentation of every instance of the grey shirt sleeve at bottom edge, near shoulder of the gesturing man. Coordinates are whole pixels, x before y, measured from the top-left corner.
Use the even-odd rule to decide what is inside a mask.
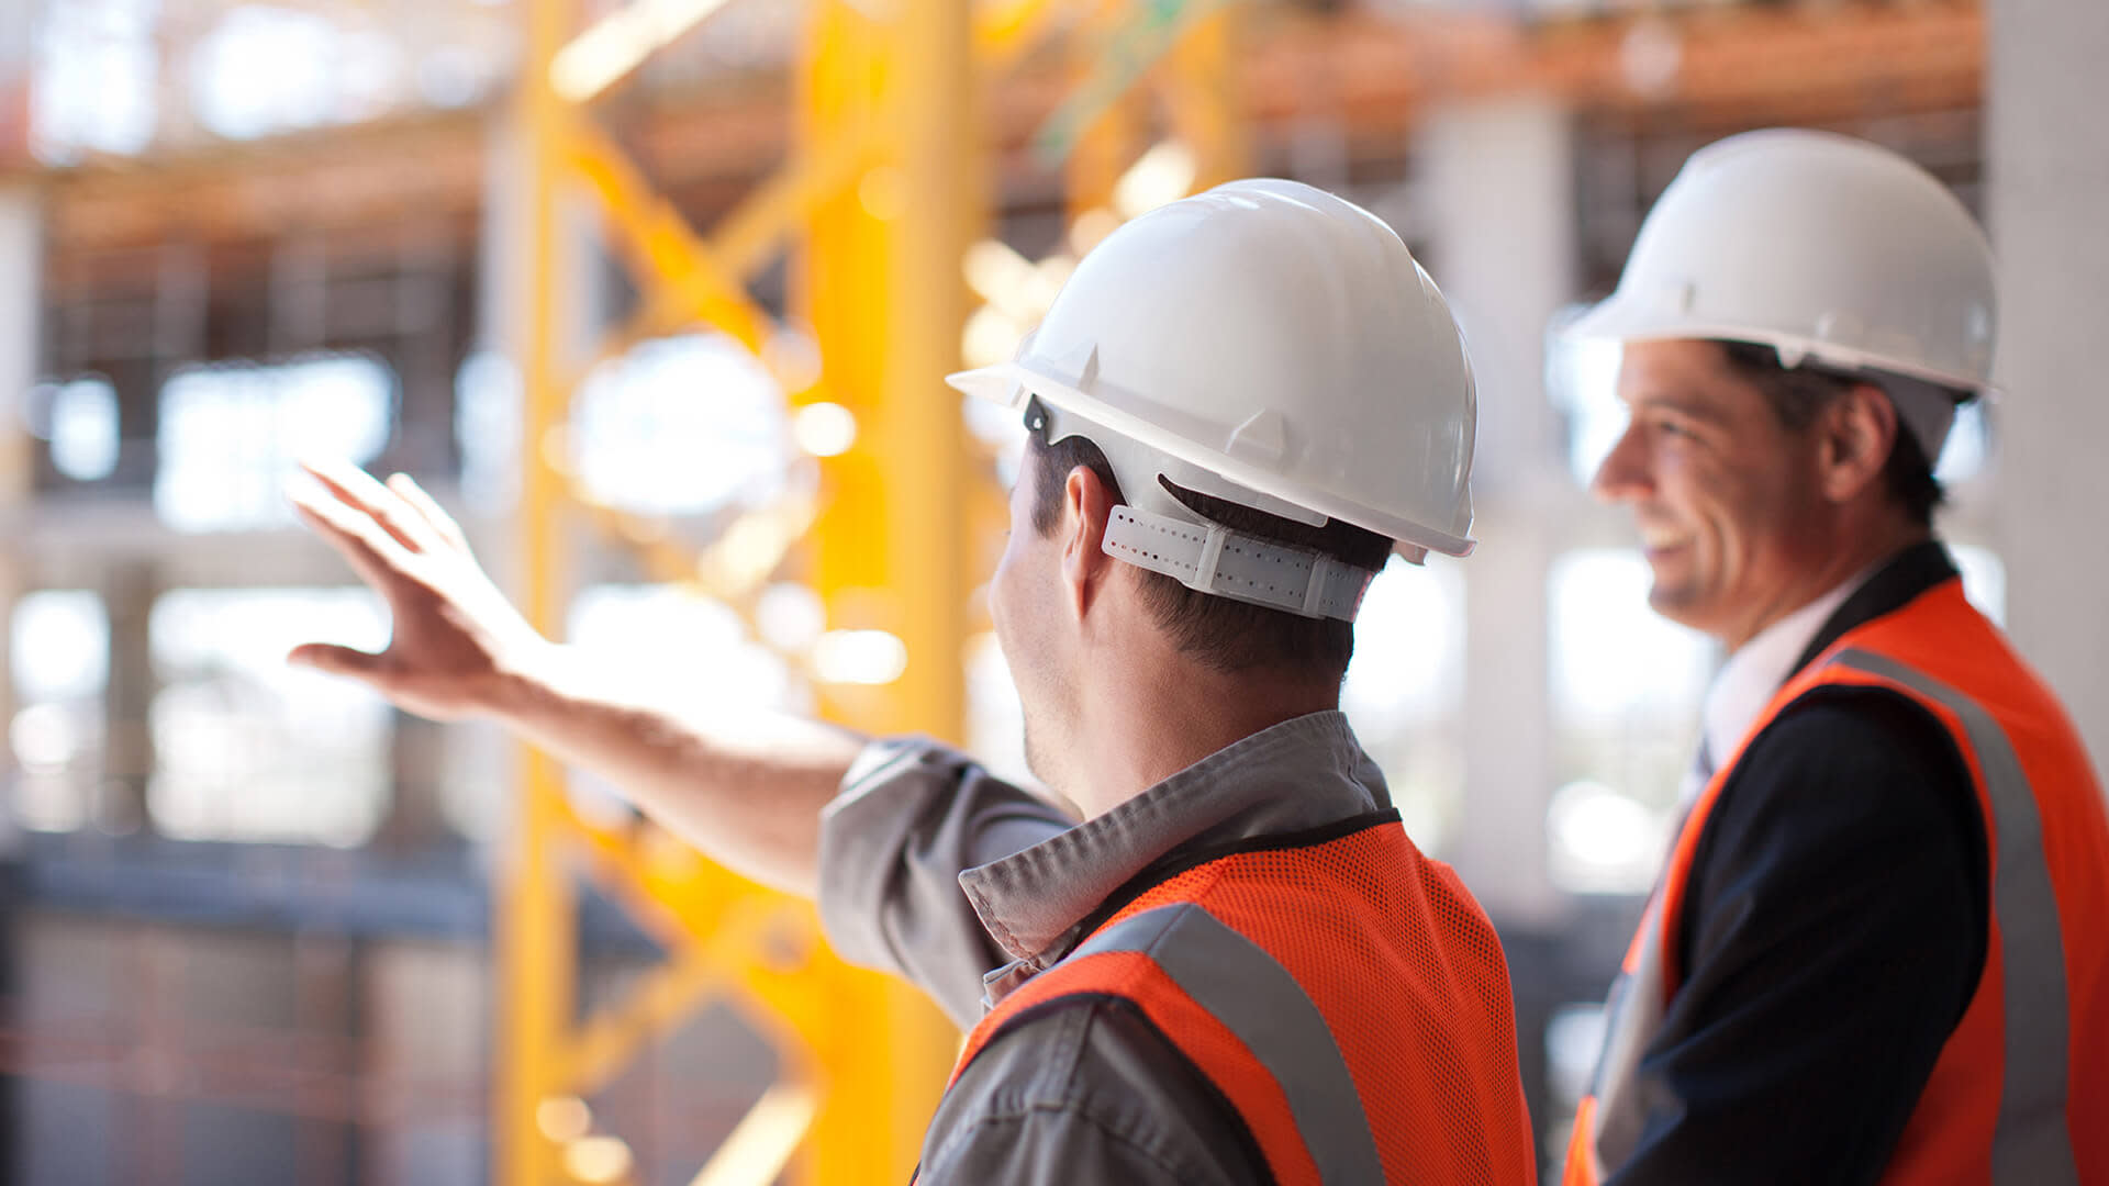
[[[939,1104],[917,1186],[1261,1186],[1244,1125],[1137,1009],[1017,1024]]]

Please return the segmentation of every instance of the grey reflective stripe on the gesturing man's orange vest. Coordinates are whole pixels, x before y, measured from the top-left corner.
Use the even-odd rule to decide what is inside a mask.
[[[1107,926],[1069,958],[1141,952],[1221,1021],[1282,1087],[1327,1186],[1384,1182],[1377,1140],[1324,1015],[1289,969],[1194,903]]]

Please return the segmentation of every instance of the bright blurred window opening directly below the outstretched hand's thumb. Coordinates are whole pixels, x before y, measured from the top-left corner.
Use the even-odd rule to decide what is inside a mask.
[[[148,623],[162,680],[148,810],[177,840],[354,846],[390,800],[390,707],[285,663],[302,642],[378,650],[363,589],[173,589]]]

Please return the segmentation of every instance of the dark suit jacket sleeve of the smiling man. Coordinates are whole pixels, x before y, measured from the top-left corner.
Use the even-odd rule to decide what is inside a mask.
[[[1955,743],[1892,692],[1812,696],[1753,741],[1607,1182],[1877,1182],[1985,967],[1982,829]]]

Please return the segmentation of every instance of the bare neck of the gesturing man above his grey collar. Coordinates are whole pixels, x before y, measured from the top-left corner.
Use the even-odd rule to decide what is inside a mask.
[[[1086,819],[1147,791],[1225,745],[1308,713],[1337,709],[1339,690],[1278,673],[1227,675],[1189,663],[1158,637],[1139,642],[1086,688],[1073,783]]]

